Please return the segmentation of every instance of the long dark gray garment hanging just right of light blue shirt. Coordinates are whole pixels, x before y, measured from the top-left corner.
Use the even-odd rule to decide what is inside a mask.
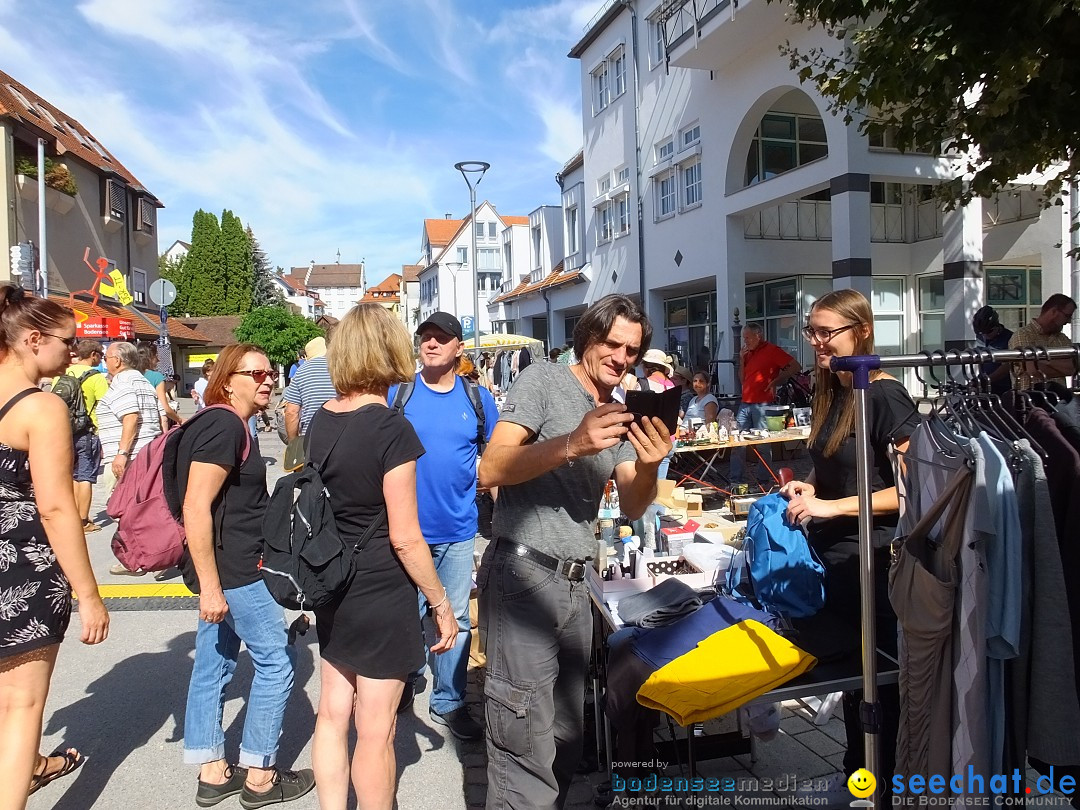
[[[1010,729],[1015,761],[1080,765],[1080,699],[1072,664],[1072,625],[1042,459],[1026,438],[1016,496],[1024,532],[1024,610],[1020,657],[1010,663]]]

